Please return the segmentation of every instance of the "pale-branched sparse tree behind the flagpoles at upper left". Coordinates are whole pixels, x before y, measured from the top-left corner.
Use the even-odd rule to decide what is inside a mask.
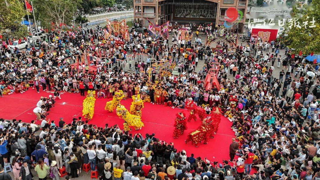
[[[41,26],[61,30],[63,25],[71,25],[81,2],[82,0],[33,0],[33,5]]]

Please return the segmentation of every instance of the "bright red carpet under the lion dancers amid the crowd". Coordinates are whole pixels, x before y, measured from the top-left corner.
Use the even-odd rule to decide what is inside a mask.
[[[36,119],[36,115],[33,113],[33,109],[36,106],[37,101],[41,96],[48,97],[51,93],[40,90],[40,93],[36,93],[36,90],[28,90],[23,94],[5,95],[4,98],[0,98],[0,118],[4,119],[21,119],[24,122],[31,122]],[[57,99],[55,106],[49,111],[48,118],[54,120],[56,124],[60,117],[64,118],[67,123],[72,121],[72,118],[82,116],[82,102],[85,97],[80,94],[64,93],[61,94],[61,99]],[[123,127],[123,120],[116,115],[116,112],[109,113],[104,110],[105,104],[109,99],[97,99],[95,102],[95,112],[92,121],[97,126],[104,127],[106,123],[110,125],[118,124]],[[65,103],[64,103],[65,102]],[[130,108],[132,99],[122,100],[121,104],[127,109]],[[64,105],[62,104],[64,103]],[[229,144],[231,138],[234,137],[234,132],[230,129],[231,122],[227,118],[221,116],[221,122],[218,133],[213,139],[209,141],[207,145],[201,144],[196,148],[189,142],[184,143],[187,134],[196,129],[200,125],[200,121],[188,122],[188,129],[178,139],[172,138],[173,124],[175,114],[185,111],[187,116],[189,112],[182,109],[172,109],[170,107],[164,107],[163,105],[152,105],[150,103],[144,103],[142,109],[142,121],[145,125],[139,131],[133,131],[132,133],[139,132],[143,136],[146,133],[155,133],[156,137],[165,142],[173,142],[175,148],[180,150],[186,150],[187,155],[194,153],[196,157],[207,157],[210,161],[219,161],[229,159]],[[40,121],[37,122],[40,124]]]

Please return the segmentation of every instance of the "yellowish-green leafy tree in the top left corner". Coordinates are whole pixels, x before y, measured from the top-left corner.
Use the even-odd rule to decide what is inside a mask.
[[[27,14],[20,0],[0,0],[0,34],[6,38],[22,38],[28,35],[28,28],[21,24]]]

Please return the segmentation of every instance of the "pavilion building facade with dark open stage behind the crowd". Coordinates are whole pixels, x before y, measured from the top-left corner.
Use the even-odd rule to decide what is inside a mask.
[[[170,21],[178,23],[213,23],[216,27],[223,25],[227,9],[236,8],[243,12],[243,17],[232,28],[244,27],[248,0],[133,0],[134,20],[140,26],[148,26],[148,20],[162,24]],[[240,19],[240,15],[237,20]]]

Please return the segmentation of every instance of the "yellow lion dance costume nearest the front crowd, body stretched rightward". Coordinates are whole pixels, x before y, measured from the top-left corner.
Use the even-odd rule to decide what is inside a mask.
[[[123,127],[125,131],[130,131],[131,128],[129,126],[133,126],[134,129],[139,130],[144,127],[143,122],[141,122],[141,118],[137,115],[130,114],[129,111],[123,106],[120,105],[116,108],[116,113],[124,120]]]

